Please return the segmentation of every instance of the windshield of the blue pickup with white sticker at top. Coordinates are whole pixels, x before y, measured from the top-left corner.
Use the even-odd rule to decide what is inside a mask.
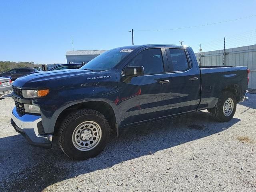
[[[132,49],[112,49],[86,63],[80,69],[108,70],[116,66]]]

